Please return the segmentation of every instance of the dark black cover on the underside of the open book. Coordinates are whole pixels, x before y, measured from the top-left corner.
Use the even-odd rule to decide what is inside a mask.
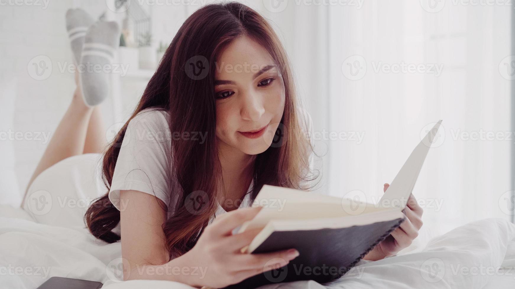
[[[284,267],[226,288],[256,288],[270,283],[299,280],[314,280],[318,283],[333,281],[354,267],[375,245],[399,227],[403,220],[347,228],[273,232],[252,254],[296,248],[300,255]]]

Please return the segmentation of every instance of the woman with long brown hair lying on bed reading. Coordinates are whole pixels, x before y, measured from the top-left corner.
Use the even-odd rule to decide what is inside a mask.
[[[90,147],[100,152],[94,145],[99,133],[91,129],[95,109],[84,104],[89,97],[81,91],[33,178]],[[299,111],[286,54],[261,15],[227,3],[188,17],[104,153],[109,192],[84,216],[96,238],[122,240],[124,280],[224,287],[297,257],[295,248],[239,253],[258,231],[231,232],[258,213],[237,208],[250,206],[264,184],[310,188],[313,151],[304,136],[311,124]],[[59,149],[70,142],[75,150]],[[422,212],[416,204],[409,207],[407,221],[366,259],[393,255],[416,237]],[[156,274],[172,267],[207,271]]]

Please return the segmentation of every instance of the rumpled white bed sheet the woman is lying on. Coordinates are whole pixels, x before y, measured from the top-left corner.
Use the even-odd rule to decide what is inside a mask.
[[[504,273],[488,270],[504,267]],[[490,269],[492,268],[492,269]],[[515,225],[486,219],[433,238],[421,250],[362,261],[329,284],[279,283],[272,288],[514,288]],[[120,243],[96,240],[81,226],[33,222],[21,209],[0,205],[0,284],[36,288],[53,276],[104,283],[106,289],[191,288],[171,281],[122,277]],[[483,274],[482,274],[483,272]]]

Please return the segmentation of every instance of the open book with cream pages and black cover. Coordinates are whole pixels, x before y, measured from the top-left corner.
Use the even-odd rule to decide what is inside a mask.
[[[332,281],[346,274],[375,245],[400,226],[409,195],[441,120],[415,147],[379,204],[358,202],[303,190],[265,185],[253,206],[263,209],[237,233],[262,228],[247,253],[296,248],[288,265],[256,275],[230,288],[253,288],[297,280]]]

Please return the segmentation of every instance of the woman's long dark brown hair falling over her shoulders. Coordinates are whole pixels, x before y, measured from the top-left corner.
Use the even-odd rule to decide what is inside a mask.
[[[168,208],[173,209],[174,214],[163,224],[164,242],[170,258],[193,247],[199,232],[209,223],[218,206],[221,168],[215,137],[215,62],[221,49],[242,35],[261,44],[272,56],[282,76],[285,93],[284,113],[274,139],[276,145],[255,158],[251,199],[264,184],[307,189],[302,184],[314,179],[308,169],[312,147],[302,134],[303,119],[299,114],[290,66],[276,33],[265,18],[241,3],[201,7],[186,19],[171,41],[140,103],[107,149],[103,162],[104,183],[109,189],[127,125],[147,108],[168,111],[170,132],[207,132],[204,143],[171,141],[167,153],[169,187],[175,182],[181,188],[181,191],[169,191],[170,197],[171,194],[178,195],[178,202],[175,208]],[[209,63],[206,77],[188,76],[186,64],[192,57],[196,61],[205,57]],[[194,191],[202,191],[208,197],[201,214],[192,214],[187,208],[186,197]],[[84,220],[96,238],[109,243],[120,240],[120,236],[111,232],[118,224],[120,214],[109,201],[108,194],[91,204]]]

